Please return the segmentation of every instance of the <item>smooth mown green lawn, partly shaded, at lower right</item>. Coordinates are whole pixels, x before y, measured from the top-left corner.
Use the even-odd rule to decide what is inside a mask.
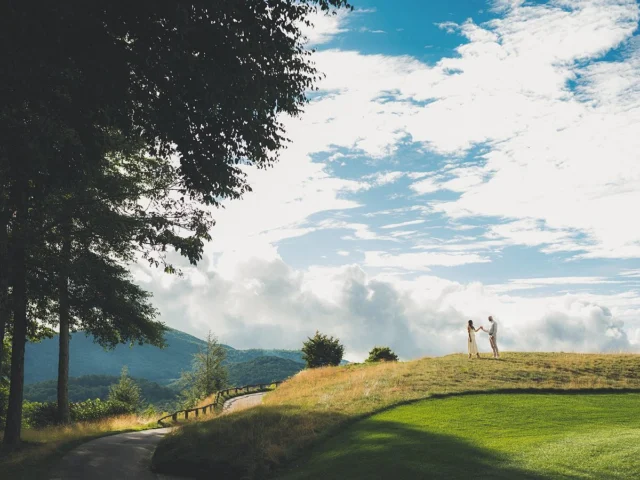
[[[277,478],[640,478],[640,394],[424,400],[352,425]]]

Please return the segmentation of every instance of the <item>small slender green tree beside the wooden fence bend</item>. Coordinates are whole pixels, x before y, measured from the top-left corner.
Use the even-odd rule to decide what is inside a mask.
[[[180,378],[183,386],[182,397],[187,407],[213,395],[227,385],[227,369],[222,364],[227,351],[218,343],[211,332],[207,334],[207,344],[193,356],[190,372],[183,372]]]

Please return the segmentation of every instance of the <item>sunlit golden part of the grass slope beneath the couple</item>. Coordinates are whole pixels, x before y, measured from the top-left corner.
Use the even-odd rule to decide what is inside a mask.
[[[265,398],[268,406],[370,413],[434,394],[501,389],[640,388],[640,355],[505,353],[303,370]]]

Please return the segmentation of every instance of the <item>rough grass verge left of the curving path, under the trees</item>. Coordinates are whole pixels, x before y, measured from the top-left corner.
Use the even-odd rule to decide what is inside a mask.
[[[2,478],[12,480],[45,479],[65,453],[84,442],[115,433],[146,430],[157,426],[155,417],[121,415],[96,422],[25,429],[22,432],[22,445],[18,450],[0,450],[0,472]]]

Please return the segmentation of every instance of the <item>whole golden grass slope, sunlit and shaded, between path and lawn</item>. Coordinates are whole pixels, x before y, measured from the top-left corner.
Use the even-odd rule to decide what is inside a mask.
[[[319,437],[403,402],[496,390],[640,390],[640,355],[504,353],[305,370],[263,404],[169,435],[154,456],[167,473],[256,478]],[[170,460],[170,461],[169,461]]]

